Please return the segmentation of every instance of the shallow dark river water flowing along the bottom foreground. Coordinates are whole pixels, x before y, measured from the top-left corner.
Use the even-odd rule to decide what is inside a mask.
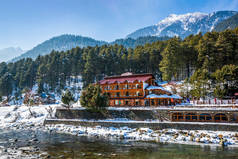
[[[35,147],[39,150],[27,153],[47,153],[48,158],[57,159],[238,159],[238,148],[133,142],[32,130],[0,130],[0,146]]]

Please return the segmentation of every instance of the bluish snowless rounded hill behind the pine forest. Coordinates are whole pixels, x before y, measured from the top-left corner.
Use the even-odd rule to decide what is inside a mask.
[[[15,62],[17,60],[23,58],[32,58],[36,59],[37,56],[47,55],[51,51],[67,51],[75,47],[88,47],[88,46],[102,46],[102,45],[111,45],[111,44],[119,44],[123,45],[126,48],[135,48],[138,45],[144,45],[146,43],[152,43],[158,40],[168,40],[169,37],[140,37],[138,39],[118,39],[111,43],[105,41],[99,41],[88,37],[77,36],[77,35],[61,35],[57,37],[53,37],[33,49],[25,52],[24,54],[14,58],[11,62]]]

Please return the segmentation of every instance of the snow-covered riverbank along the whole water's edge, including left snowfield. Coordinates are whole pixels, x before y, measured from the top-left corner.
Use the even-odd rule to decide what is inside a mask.
[[[238,147],[238,132],[225,131],[189,131],[189,130],[152,130],[149,128],[129,127],[83,127],[72,125],[46,125],[44,119],[49,117],[49,110],[54,110],[59,105],[33,106],[29,111],[27,106],[0,107],[0,127],[2,129],[32,129],[42,131],[56,131],[69,133],[77,136],[95,136],[111,139],[126,139],[136,141],[155,141],[180,144],[206,144],[206,145],[229,145]],[[82,109],[82,108],[75,108]],[[118,119],[115,119],[116,122]],[[113,121],[113,119],[107,120]],[[121,119],[119,121],[122,121]],[[125,122],[136,122],[127,121]],[[102,121],[103,122],[103,121]],[[106,122],[106,121],[105,121]],[[149,122],[149,121],[144,121]],[[151,121],[150,121],[151,122]],[[202,123],[201,123],[202,124]]]

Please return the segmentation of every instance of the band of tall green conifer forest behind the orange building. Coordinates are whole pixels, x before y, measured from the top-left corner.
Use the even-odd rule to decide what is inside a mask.
[[[81,76],[86,87],[105,76],[133,72],[153,73],[165,81],[186,79],[192,86],[190,95],[204,97],[212,92],[221,97],[238,91],[237,48],[238,28],[135,48],[115,44],[52,51],[35,60],[0,63],[0,96],[17,97],[35,85],[38,93],[61,93],[72,76]]]

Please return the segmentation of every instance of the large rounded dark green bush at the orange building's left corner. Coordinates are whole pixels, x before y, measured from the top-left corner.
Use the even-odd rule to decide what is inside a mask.
[[[80,103],[87,109],[100,111],[108,107],[108,96],[106,94],[102,94],[99,85],[91,84],[83,90],[80,97]]]

